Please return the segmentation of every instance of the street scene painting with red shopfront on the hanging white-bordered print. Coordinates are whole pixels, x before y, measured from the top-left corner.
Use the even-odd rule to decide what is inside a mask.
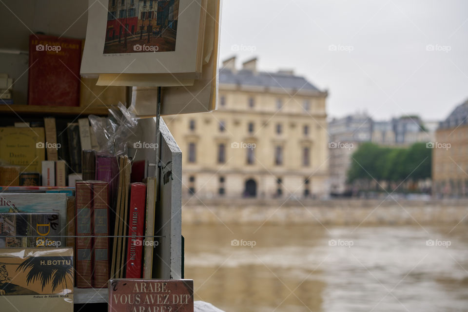
[[[104,54],[176,51],[179,0],[109,0]]]

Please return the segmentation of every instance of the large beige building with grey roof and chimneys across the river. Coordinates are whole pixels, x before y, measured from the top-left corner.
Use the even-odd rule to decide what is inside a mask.
[[[164,117],[183,152],[184,195],[328,195],[327,92],[256,61],[224,61],[217,111]]]

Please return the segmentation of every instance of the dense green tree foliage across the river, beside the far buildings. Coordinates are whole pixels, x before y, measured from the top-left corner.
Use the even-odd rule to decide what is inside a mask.
[[[409,148],[364,143],[352,155],[348,181],[416,181],[429,178],[430,170],[431,149],[426,148],[426,143],[415,143]]]

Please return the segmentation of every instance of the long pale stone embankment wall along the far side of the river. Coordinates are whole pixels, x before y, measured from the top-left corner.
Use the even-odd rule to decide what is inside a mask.
[[[468,200],[183,200],[183,224],[468,224]]]

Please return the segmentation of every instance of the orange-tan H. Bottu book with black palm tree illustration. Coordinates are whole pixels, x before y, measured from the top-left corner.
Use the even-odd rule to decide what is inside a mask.
[[[2,312],[73,311],[72,248],[0,249]]]

